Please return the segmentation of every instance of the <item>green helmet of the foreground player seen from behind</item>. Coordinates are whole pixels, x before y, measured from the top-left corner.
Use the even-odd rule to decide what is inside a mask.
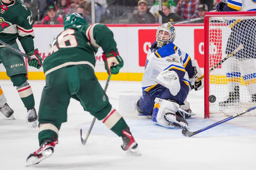
[[[64,30],[72,27],[72,26],[80,26],[87,25],[88,23],[85,21],[83,16],[79,13],[73,13],[71,15],[66,15],[64,18],[63,26]]]

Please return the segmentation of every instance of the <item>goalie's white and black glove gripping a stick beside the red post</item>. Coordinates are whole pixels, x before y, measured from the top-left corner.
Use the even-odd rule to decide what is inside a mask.
[[[196,60],[192,60],[191,62],[194,71],[194,76],[189,78],[191,89],[201,90],[204,87],[204,78],[201,80],[198,80],[198,78],[203,76],[203,73],[200,70]]]

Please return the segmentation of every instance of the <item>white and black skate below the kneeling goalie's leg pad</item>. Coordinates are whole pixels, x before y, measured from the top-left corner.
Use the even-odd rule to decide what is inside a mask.
[[[189,128],[188,122],[183,117],[180,117],[179,115],[176,115],[174,113],[166,113],[164,115],[164,119],[168,122],[170,122],[174,127],[177,128]]]

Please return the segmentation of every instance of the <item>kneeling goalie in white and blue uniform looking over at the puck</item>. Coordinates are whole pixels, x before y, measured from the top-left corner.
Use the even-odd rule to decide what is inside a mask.
[[[142,78],[142,96],[136,104],[140,113],[167,128],[188,127],[188,109],[182,109],[191,89],[204,86],[196,60],[173,44],[175,28],[170,22],[156,32],[156,42],[148,50]],[[187,102],[186,102],[187,103]],[[190,109],[189,109],[190,110]]]

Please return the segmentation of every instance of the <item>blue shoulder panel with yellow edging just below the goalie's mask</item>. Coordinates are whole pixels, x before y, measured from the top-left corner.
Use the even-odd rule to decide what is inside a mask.
[[[177,52],[178,47],[173,43],[167,44],[162,48],[157,49],[154,54],[157,58],[164,58],[170,55],[173,55]]]

